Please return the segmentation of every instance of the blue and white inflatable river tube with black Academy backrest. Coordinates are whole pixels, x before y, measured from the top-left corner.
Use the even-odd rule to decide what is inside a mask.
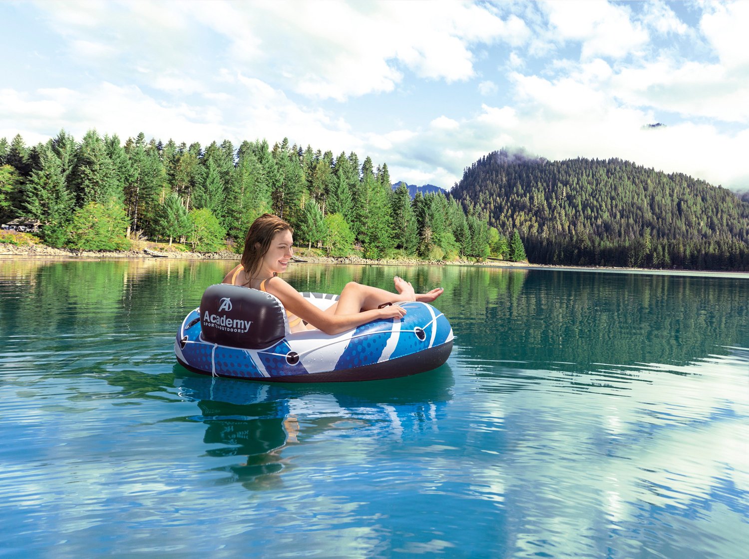
[[[302,295],[323,310],[338,300]],[[400,305],[407,311],[402,320],[375,320],[337,335],[291,333],[276,296],[216,284],[182,321],[175,354],[195,373],[275,382],[392,379],[439,367],[452,351],[445,315],[427,303]]]

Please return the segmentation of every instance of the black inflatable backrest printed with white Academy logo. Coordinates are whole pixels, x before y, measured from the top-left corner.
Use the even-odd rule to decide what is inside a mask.
[[[215,284],[200,302],[203,339],[222,346],[264,349],[288,332],[286,311],[276,296],[238,285]]]

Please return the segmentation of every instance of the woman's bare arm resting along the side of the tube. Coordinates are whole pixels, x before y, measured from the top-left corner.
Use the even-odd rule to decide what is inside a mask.
[[[372,311],[353,314],[326,313],[304,299],[301,293],[279,277],[270,278],[266,281],[265,289],[268,293],[272,293],[278,297],[286,310],[296,314],[302,320],[306,320],[306,322],[325,332],[327,335],[340,334],[341,332],[351,330],[352,328],[380,318],[396,318],[400,320],[406,314],[406,310],[398,305],[389,305],[384,308],[376,308]]]

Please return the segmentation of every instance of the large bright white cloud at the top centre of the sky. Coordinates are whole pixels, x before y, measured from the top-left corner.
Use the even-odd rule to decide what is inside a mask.
[[[336,2],[326,7],[283,1],[221,4],[207,10],[204,21],[231,41],[231,55],[243,71],[274,76],[279,85],[306,97],[339,101],[393,91],[406,69],[426,79],[469,79],[475,75],[470,46],[498,40],[520,44],[529,34],[517,17],[505,22],[476,4]]]

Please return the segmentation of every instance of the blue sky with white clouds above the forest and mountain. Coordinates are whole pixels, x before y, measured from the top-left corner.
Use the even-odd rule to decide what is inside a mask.
[[[506,147],[749,190],[749,1],[2,1],[0,21],[8,140],[287,137],[445,188]]]

